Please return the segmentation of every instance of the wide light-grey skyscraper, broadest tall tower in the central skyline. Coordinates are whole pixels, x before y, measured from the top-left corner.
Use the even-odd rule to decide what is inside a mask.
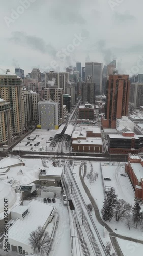
[[[92,82],[96,84],[95,95],[102,94],[102,63],[85,63],[85,81],[88,76],[92,77]]]

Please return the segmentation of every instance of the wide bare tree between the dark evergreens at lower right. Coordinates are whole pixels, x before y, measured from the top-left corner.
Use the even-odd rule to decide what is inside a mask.
[[[119,221],[121,218],[125,217],[130,213],[132,206],[127,203],[124,199],[119,199],[116,204],[116,221]]]

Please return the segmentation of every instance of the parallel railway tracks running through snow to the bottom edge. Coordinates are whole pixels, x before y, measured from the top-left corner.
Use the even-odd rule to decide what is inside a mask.
[[[71,175],[72,175],[72,172],[71,172],[70,167],[69,167],[69,170],[70,170],[70,173],[71,173]],[[76,202],[76,206],[77,206],[77,208],[78,208],[80,217],[81,217],[82,220],[83,220],[83,226],[84,226],[84,228],[85,228],[85,231],[86,231],[86,233],[87,233],[87,237],[88,237],[89,243],[90,243],[91,248],[92,248],[92,251],[93,251],[93,253],[94,253],[93,255],[96,255],[96,256],[107,255],[107,254],[106,254],[106,251],[105,251],[105,248],[104,248],[104,245],[103,245],[103,243],[102,243],[102,240],[101,240],[101,238],[100,238],[100,236],[99,236],[99,233],[98,233],[98,231],[97,231],[97,229],[96,229],[96,227],[95,227],[95,224],[94,224],[94,222],[93,222],[93,220],[92,220],[92,218],[91,218],[91,216],[90,216],[90,214],[89,214],[89,211],[88,211],[88,209],[87,209],[87,205],[86,205],[85,202],[84,202],[84,199],[83,199],[83,197],[82,197],[82,195],[81,195],[81,193],[80,193],[80,190],[79,190],[79,188],[78,188],[78,186],[77,186],[75,180],[74,180],[74,183],[73,183],[73,180],[70,178],[70,175],[69,175],[69,172],[68,172],[67,168],[66,168],[66,177],[67,177],[68,183],[69,183],[69,184],[72,184],[72,194],[73,194],[74,200],[75,200],[75,202]],[[72,178],[74,178],[73,175],[72,175]],[[90,219],[92,220],[92,224],[93,224],[94,230],[95,230],[95,232],[96,232],[97,238],[98,238],[98,240],[99,240],[99,242],[100,242],[100,244],[101,244],[102,253],[103,253],[103,254],[101,254],[101,250],[100,250],[100,248],[99,248],[99,246],[98,246],[98,243],[97,243],[97,241],[96,241],[96,239],[95,239],[95,236],[94,236],[94,234],[93,234],[93,231],[92,231],[92,229],[91,229],[91,227],[90,227],[90,225],[89,225],[87,216],[85,215],[85,212],[84,212],[83,207],[82,207],[82,205],[81,205],[81,200],[79,199],[79,196],[78,196],[77,191],[76,191],[76,189],[74,188],[73,184],[75,184],[75,185],[76,185],[76,188],[78,188],[78,193],[79,193],[79,195],[80,195],[80,197],[81,197],[81,199],[82,199],[82,202],[83,202],[85,208],[87,209],[87,212],[88,212],[88,214],[89,214],[89,216],[90,216]]]

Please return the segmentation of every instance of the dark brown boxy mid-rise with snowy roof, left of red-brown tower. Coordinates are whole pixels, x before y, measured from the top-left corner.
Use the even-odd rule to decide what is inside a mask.
[[[94,120],[94,105],[87,103],[85,105],[79,106],[78,116],[79,116],[79,119]]]

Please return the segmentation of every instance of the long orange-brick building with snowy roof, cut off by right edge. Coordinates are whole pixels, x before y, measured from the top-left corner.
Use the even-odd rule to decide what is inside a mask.
[[[143,160],[139,155],[129,154],[125,172],[135,190],[135,197],[143,201]]]

